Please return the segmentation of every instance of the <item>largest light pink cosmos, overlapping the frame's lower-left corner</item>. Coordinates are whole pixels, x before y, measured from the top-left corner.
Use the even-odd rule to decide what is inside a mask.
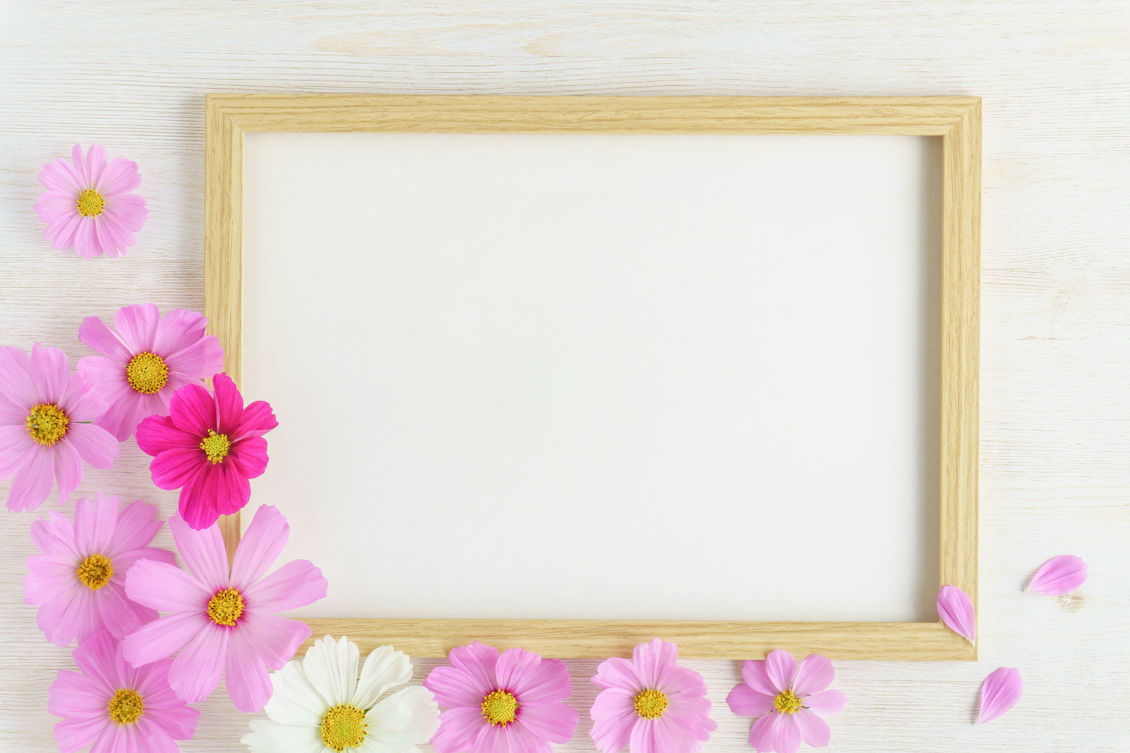
[[[153,560],[130,568],[125,594],[138,604],[175,614],[127,636],[125,658],[139,667],[183,648],[168,672],[180,698],[203,700],[225,675],[235,708],[258,711],[271,698],[263,665],[281,669],[310,637],[305,624],[273,612],[324,598],[325,578],[306,560],[287,562],[263,578],[290,534],[286,518],[267,505],[255,511],[231,570],[219,526],[193,531],[174,515],[168,527],[192,575]]]

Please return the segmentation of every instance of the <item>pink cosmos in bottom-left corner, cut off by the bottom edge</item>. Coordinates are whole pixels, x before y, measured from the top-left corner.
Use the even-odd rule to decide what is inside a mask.
[[[62,717],[55,743],[73,753],[176,753],[175,739],[192,739],[200,712],[168,688],[169,659],[140,669],[122,658],[105,630],[80,640],[72,653],[81,672],[60,671],[47,691],[47,711]]]

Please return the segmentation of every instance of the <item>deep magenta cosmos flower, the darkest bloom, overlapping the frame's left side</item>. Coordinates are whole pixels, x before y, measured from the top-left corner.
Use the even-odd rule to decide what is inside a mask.
[[[226,374],[212,384],[215,395],[197,384],[181,387],[168,415],[150,415],[137,428],[138,447],[154,456],[153,482],[181,490],[177,510],[197,531],[247,504],[247,480],[267,470],[263,435],[279,424],[261,400],[244,408]]]

